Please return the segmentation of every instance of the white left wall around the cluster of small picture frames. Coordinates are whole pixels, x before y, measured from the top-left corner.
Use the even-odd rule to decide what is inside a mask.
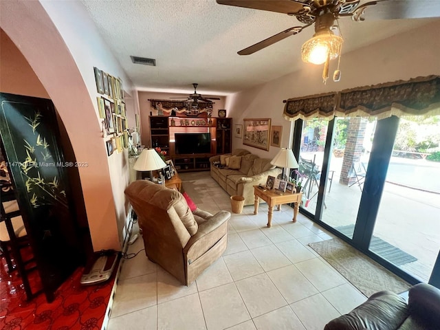
[[[89,17],[85,6],[80,1],[47,1],[41,0],[43,8],[54,22],[54,25],[63,37],[76,65],[83,76],[84,83],[89,91],[91,101],[94,104],[97,120],[98,104],[94,76],[94,67],[102,69],[111,76],[122,79],[124,90],[129,93],[131,98],[126,107],[129,127],[134,127],[134,113],[139,113],[137,108],[137,94],[131,80],[126,76],[118,61],[111,54],[111,50],[102,40],[94,22]],[[78,22],[81,22],[78,24]],[[130,122],[130,119],[132,120]],[[100,121],[100,120],[99,120]],[[102,140],[104,144],[105,140]],[[122,242],[122,228],[126,220],[128,202],[124,195],[124,188],[129,184],[129,161],[127,151],[123,153],[113,153],[108,159],[108,166],[115,202],[115,212],[118,223],[118,234]]]

